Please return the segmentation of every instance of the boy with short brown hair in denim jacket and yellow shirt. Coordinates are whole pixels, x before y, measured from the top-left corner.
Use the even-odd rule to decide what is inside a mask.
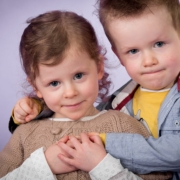
[[[133,80],[98,108],[136,117],[152,133],[108,133],[106,150],[133,172],[172,171],[180,179],[179,1],[100,0],[99,16]]]

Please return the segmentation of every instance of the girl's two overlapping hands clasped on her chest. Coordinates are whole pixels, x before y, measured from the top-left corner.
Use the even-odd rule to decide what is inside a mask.
[[[106,151],[98,135],[81,133],[79,137],[64,136],[46,150],[45,156],[54,174],[77,169],[89,172],[102,161]]]

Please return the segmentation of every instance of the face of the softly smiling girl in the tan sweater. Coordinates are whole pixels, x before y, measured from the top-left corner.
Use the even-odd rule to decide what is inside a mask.
[[[54,117],[78,120],[97,113],[93,103],[102,76],[103,65],[97,67],[86,52],[70,49],[58,65],[39,65],[36,93],[55,112]]]

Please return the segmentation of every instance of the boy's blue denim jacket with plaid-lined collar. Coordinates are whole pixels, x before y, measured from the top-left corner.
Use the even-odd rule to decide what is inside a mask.
[[[137,84],[130,80],[118,89],[110,101],[98,106],[117,109],[134,117],[132,98]],[[135,173],[172,171],[180,179],[180,80],[171,88],[158,114],[159,138],[145,139],[139,134],[108,133],[106,150]]]

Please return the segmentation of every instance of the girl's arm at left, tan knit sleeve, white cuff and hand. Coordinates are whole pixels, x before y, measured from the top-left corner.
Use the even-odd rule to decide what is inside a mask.
[[[32,126],[28,125],[18,127],[11,136],[10,141],[0,152],[0,178],[9,180],[21,176],[29,177],[30,173],[30,176],[32,176],[30,179],[32,180],[52,179],[54,174],[67,173],[76,170],[75,167],[65,164],[58,158],[59,153],[64,156],[66,153],[60,150],[57,144],[52,144],[45,152],[43,148],[40,148],[30,154],[29,158],[24,160],[25,147],[23,142],[28,139],[27,134],[24,134],[24,132],[26,132],[29,127],[31,127],[32,130]],[[24,128],[26,128],[26,130],[24,130]],[[37,176],[37,178],[33,179],[34,176]]]

